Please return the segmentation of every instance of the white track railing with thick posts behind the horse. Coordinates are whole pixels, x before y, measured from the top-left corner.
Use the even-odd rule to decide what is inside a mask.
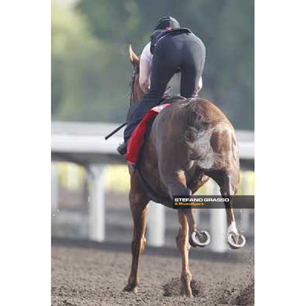
[[[89,239],[102,242],[105,240],[105,174],[104,164],[109,162],[123,163],[124,160],[116,151],[116,147],[122,140],[122,131],[118,135],[105,141],[104,136],[116,127],[108,123],[52,123],[52,159],[66,160],[80,163],[86,166],[90,172],[91,189],[89,196]],[[254,135],[252,132],[236,132],[240,159],[254,160]],[[57,173],[52,167],[52,210],[57,210]],[[244,194],[249,194],[247,184],[244,184]],[[162,205],[149,203],[148,208],[148,244],[162,246],[165,240],[165,209]],[[244,210],[242,220],[244,227],[248,226],[248,210]],[[214,238],[211,249],[216,252],[226,250],[225,235],[226,222],[225,210],[211,210],[211,231]]]

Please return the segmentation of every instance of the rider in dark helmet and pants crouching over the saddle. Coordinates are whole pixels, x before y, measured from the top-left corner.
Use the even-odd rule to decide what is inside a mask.
[[[175,73],[182,73],[181,96],[194,97],[201,90],[205,57],[203,42],[189,29],[181,28],[176,19],[166,16],[157,22],[140,56],[139,83],[145,94],[133,113],[127,116],[124,143],[117,148],[119,154],[126,153],[127,141],[146,112],[161,103]]]

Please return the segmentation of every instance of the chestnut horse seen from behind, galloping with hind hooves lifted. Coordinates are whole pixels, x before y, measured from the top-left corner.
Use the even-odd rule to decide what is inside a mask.
[[[134,68],[130,107],[144,92],[139,85],[139,58],[129,46]],[[232,208],[239,183],[239,150],[235,130],[220,109],[207,99],[177,97],[151,124],[145,137],[136,169],[129,165],[129,201],[133,216],[131,273],[125,291],[137,293],[139,262],[146,239],[146,216],[149,200],[169,207],[173,195],[189,197],[210,178],[220,187],[225,201],[227,243],[233,249],[244,246],[238,233]],[[172,207],[172,206],[171,206]],[[195,209],[178,209],[181,224],[176,246],[181,252],[181,294],[191,297],[192,275],[188,263],[191,246],[204,247],[210,242],[207,231],[197,231]]]

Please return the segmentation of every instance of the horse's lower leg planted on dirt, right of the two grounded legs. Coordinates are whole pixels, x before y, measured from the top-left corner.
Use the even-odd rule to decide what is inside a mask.
[[[176,245],[181,252],[181,258],[182,258],[181,294],[190,297],[192,296],[192,291],[190,287],[192,275],[188,263],[188,253],[190,249],[190,244],[188,242],[189,226],[186,214],[181,209],[179,209],[178,213],[179,213],[179,221],[181,223],[181,228],[179,235],[177,235],[176,237]]]

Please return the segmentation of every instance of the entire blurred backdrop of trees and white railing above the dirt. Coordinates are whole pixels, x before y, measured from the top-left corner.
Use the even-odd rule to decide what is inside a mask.
[[[129,173],[115,151],[122,131],[107,142],[104,136],[125,121],[132,73],[127,47],[131,43],[140,54],[164,15],[178,19],[206,45],[199,96],[212,100],[234,124],[241,153],[239,194],[253,194],[253,1],[53,0],[53,237],[130,243]],[[172,94],[179,93],[179,81],[180,75],[171,81]],[[209,181],[198,194],[216,191]],[[200,229],[225,237],[224,210],[197,211]],[[174,246],[176,212],[150,203],[148,215],[149,244]],[[252,245],[253,210],[237,210],[236,217]],[[222,241],[212,249],[228,248]]]

